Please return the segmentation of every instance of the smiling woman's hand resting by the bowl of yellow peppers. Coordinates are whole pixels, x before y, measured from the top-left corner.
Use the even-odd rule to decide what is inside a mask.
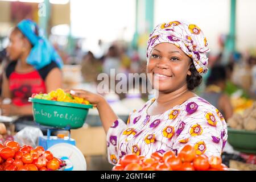
[[[105,101],[104,97],[102,97],[100,94],[92,93],[86,90],[72,89],[69,90],[69,93],[72,96],[84,98],[85,100],[89,101],[90,104],[92,104],[94,107],[98,107],[98,105]]]

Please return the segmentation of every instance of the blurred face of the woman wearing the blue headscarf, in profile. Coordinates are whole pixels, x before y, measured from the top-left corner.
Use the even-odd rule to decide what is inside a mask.
[[[9,36],[10,43],[7,47],[7,56],[10,60],[18,60],[22,55],[24,48],[24,38],[18,31],[11,32]]]

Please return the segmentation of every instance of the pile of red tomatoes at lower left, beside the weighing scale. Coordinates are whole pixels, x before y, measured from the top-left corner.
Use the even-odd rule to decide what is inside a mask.
[[[55,171],[65,163],[38,146],[20,147],[13,140],[0,143],[0,171]]]

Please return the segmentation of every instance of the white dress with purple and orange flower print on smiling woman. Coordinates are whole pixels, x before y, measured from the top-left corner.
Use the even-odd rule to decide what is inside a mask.
[[[148,115],[152,99],[129,115],[127,124],[114,121],[107,134],[108,159],[112,164],[123,155],[135,153],[150,157],[159,151],[176,154],[186,144],[197,154],[220,156],[228,138],[220,111],[200,97],[192,97],[163,114]]]

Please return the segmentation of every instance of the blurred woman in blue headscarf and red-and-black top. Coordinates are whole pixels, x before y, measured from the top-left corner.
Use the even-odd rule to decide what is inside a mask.
[[[18,23],[9,39],[7,56],[12,61],[3,74],[2,99],[11,102],[1,103],[2,115],[28,116],[25,120],[32,120],[28,98],[32,93],[48,93],[62,86],[63,61],[31,20]]]

